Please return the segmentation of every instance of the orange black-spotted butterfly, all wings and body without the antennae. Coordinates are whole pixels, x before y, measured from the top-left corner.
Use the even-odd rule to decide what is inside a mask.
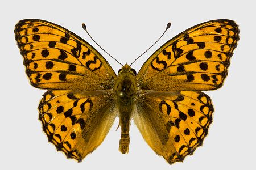
[[[130,121],[168,163],[183,162],[201,146],[213,105],[204,92],[220,88],[239,39],[227,19],[191,27],[162,45],[138,74],[124,65],[115,74],[81,37],[39,19],[20,20],[15,40],[32,86],[48,90],[39,120],[49,142],[81,162],[119,117],[119,151],[129,151]]]

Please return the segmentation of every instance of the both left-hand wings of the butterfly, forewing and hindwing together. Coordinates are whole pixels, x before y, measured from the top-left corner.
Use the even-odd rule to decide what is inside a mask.
[[[26,19],[14,32],[30,83],[50,89],[39,104],[49,142],[80,162],[101,144],[117,116],[112,67],[88,42],[59,25]]]

